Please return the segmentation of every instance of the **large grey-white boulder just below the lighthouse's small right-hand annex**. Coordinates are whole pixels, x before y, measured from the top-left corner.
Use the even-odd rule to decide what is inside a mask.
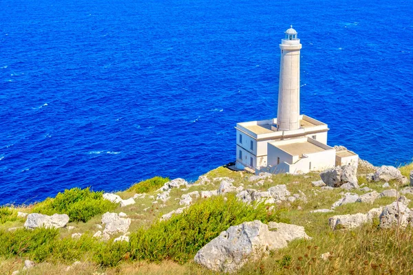
[[[324,183],[331,187],[339,187],[348,182],[357,184],[357,167],[352,165],[336,166],[320,173]]]

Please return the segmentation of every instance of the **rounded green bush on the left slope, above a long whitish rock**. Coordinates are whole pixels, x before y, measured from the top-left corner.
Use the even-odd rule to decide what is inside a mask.
[[[96,214],[114,210],[116,203],[103,199],[103,192],[93,192],[89,188],[72,188],[36,204],[33,212],[41,214],[68,214],[70,221],[89,221]]]

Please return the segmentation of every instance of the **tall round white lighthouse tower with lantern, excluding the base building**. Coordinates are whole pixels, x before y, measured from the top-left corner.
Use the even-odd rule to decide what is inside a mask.
[[[279,89],[277,109],[277,129],[297,130],[299,124],[299,56],[301,43],[293,26],[286,30],[282,39],[281,63],[279,65]]]

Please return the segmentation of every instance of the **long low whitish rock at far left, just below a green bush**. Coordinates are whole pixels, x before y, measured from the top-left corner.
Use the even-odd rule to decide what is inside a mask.
[[[69,222],[69,216],[67,214],[53,214],[47,216],[45,214],[32,213],[28,214],[28,219],[24,223],[24,227],[27,229],[40,228],[63,228]]]

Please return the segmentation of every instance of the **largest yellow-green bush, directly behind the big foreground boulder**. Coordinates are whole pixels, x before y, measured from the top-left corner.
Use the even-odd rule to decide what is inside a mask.
[[[158,221],[147,230],[141,228],[132,233],[131,256],[184,263],[232,225],[254,220],[279,221],[279,211],[269,212],[267,208],[264,203],[252,206],[242,203],[235,195],[229,195],[227,200],[217,196],[200,201],[168,221]]]

